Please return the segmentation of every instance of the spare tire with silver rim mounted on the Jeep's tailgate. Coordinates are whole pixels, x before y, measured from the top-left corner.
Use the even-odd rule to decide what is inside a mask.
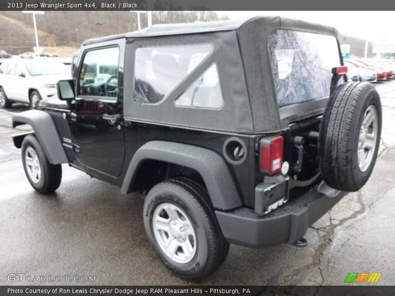
[[[381,121],[380,96],[372,84],[348,82],[336,88],[318,138],[318,164],[327,185],[344,191],[365,185],[376,162]]]

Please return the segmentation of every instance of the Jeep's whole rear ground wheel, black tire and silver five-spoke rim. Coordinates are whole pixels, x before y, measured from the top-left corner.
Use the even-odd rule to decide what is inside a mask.
[[[227,257],[229,243],[208,194],[189,179],[167,180],[150,190],[144,226],[159,259],[178,276],[205,278]]]

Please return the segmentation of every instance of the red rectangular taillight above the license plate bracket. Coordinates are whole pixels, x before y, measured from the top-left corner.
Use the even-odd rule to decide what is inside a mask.
[[[260,140],[260,170],[262,173],[274,175],[281,171],[284,160],[284,138],[272,137]]]

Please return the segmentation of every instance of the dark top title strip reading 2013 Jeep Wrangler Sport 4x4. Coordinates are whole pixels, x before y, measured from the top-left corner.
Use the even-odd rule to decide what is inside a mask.
[[[375,0],[1,0],[0,10],[395,10]]]

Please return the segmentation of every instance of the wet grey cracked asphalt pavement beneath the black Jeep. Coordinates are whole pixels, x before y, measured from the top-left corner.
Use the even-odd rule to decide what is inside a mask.
[[[381,272],[395,284],[395,80],[377,84],[383,105],[380,157],[368,184],[344,197],[307,231],[309,245],[248,249],[231,245],[207,285],[342,285],[349,272]],[[0,285],[194,284],[171,274],[145,236],[139,194],[91,179],[63,165],[54,194],[27,181],[11,135],[18,105],[0,111]],[[95,276],[94,282],[8,281],[7,275]],[[85,279],[85,278],[83,278]]]

